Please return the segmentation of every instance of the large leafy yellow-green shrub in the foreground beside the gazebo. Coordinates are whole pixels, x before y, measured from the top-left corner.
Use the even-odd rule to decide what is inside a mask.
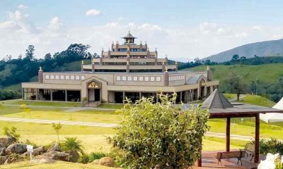
[[[127,99],[117,134],[108,138],[123,168],[190,168],[200,158],[209,112],[201,105],[186,111],[173,106],[176,94]]]

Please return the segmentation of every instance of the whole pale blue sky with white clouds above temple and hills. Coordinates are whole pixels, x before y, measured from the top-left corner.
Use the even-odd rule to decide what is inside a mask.
[[[189,61],[283,37],[283,1],[0,0],[0,59],[91,45],[100,54],[128,30],[158,56]]]

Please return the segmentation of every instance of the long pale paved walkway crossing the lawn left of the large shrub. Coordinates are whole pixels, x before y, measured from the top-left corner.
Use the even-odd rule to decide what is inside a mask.
[[[117,124],[108,123],[91,123],[91,122],[76,122],[76,121],[64,121],[64,120],[42,120],[42,119],[30,119],[30,118],[0,118],[1,121],[12,121],[12,122],[25,122],[25,123],[61,123],[62,125],[84,125],[91,127],[117,127]]]

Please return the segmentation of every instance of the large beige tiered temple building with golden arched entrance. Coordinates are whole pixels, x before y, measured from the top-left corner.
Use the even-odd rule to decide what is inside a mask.
[[[178,70],[178,63],[168,64],[168,58],[158,58],[158,52],[149,51],[147,44],[135,44],[130,32],[122,37],[123,44],[112,43],[100,58],[91,58],[91,64],[81,61],[81,71],[43,72],[38,70],[37,82],[23,82],[24,100],[79,101],[83,106],[123,103],[125,98],[135,101],[142,96],[159,92],[177,93],[177,103],[187,103],[208,96],[218,88],[219,81],[212,71]]]

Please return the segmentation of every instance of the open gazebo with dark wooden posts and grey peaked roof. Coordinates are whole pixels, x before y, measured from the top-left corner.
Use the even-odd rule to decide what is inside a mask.
[[[253,106],[248,104],[232,105],[226,98],[215,89],[212,94],[203,102],[203,108],[209,109],[209,118],[226,118],[226,151],[230,151],[230,125],[231,118],[255,117],[255,158],[254,162],[259,163],[259,142],[260,142],[260,113],[283,113],[282,110]],[[197,162],[202,166],[202,159]]]

